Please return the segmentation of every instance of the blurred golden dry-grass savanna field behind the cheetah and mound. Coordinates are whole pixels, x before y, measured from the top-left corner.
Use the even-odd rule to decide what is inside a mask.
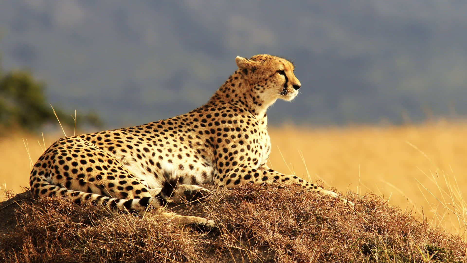
[[[67,132],[68,135],[73,131]],[[467,239],[466,122],[404,126],[270,127],[269,166],[321,180],[339,192],[373,192],[434,226]],[[28,186],[35,162],[55,139],[17,133],[0,139],[0,198]],[[24,139],[24,143],[23,143]]]

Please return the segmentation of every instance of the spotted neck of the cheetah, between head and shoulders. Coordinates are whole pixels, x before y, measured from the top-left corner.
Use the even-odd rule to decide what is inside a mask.
[[[246,80],[239,71],[235,71],[212,95],[206,105],[231,104],[244,109],[255,116],[263,117],[266,110],[276,99],[264,101],[255,93],[255,84]]]

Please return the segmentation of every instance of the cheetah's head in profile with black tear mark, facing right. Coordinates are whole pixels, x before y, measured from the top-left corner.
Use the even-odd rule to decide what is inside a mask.
[[[270,105],[280,98],[291,101],[301,84],[294,75],[294,65],[285,58],[267,54],[235,58],[239,72],[250,83],[251,91]]]

